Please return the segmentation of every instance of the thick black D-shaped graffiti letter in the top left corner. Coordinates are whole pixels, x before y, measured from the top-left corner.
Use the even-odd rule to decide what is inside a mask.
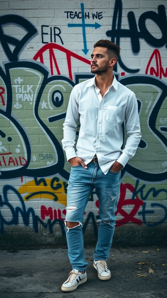
[[[6,35],[3,32],[3,25],[8,23],[14,23],[18,26],[23,27],[27,33],[21,40],[14,38],[10,35]],[[25,45],[25,43],[37,32],[37,29],[25,18],[19,15],[3,15],[0,17],[0,41],[4,49],[5,54],[7,55],[10,62],[18,61],[18,54]],[[13,52],[10,50],[8,44],[15,46]]]

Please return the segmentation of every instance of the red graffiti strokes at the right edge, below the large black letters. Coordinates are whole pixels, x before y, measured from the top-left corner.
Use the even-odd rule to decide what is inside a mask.
[[[150,67],[150,64],[151,64],[153,58],[155,58],[156,69],[153,66]],[[149,67],[150,67],[150,69],[149,69]],[[158,49],[155,49],[153,51],[153,53],[149,59],[149,62],[146,67],[146,72],[145,72],[146,75],[148,75],[148,71],[150,72],[150,75],[155,75],[156,77],[159,77],[160,79],[162,79],[162,76],[167,77],[167,67],[166,67],[166,70],[164,71],[164,69],[162,67],[160,51]]]

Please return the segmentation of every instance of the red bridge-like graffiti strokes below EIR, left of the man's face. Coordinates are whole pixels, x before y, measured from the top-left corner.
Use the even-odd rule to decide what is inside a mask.
[[[88,60],[86,58],[83,58],[82,56],[79,56],[79,55],[71,52],[70,50],[64,48],[63,46],[60,46],[59,44],[53,44],[53,43],[45,44],[35,54],[33,59],[37,60],[39,58],[40,62],[44,64],[43,53],[48,50],[49,51],[49,59],[50,59],[51,75],[53,75],[53,63],[54,63],[54,66],[56,68],[57,74],[61,75],[60,70],[59,70],[59,66],[58,66],[57,61],[56,61],[55,52],[53,51],[53,49],[59,50],[59,51],[64,52],[66,54],[68,73],[69,73],[69,77],[70,77],[71,80],[73,80],[71,58],[75,58],[77,60],[80,60],[80,61],[90,65],[90,60]]]

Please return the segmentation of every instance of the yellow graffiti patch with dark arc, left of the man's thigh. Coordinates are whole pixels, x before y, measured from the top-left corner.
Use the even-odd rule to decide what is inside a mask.
[[[45,179],[45,182],[47,184],[45,186],[43,183],[40,183],[40,185],[36,185],[35,181],[31,180],[19,187],[18,191],[20,194],[24,195],[24,201],[43,198],[57,201],[67,206],[67,194],[66,190],[64,189],[64,181],[59,179],[59,182],[56,182],[53,187],[51,187],[51,181],[52,179]]]

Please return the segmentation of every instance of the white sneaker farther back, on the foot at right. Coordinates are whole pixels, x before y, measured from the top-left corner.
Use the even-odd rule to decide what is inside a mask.
[[[98,278],[101,280],[109,280],[111,278],[111,272],[107,267],[107,263],[104,260],[93,262],[93,267],[97,270]]]

